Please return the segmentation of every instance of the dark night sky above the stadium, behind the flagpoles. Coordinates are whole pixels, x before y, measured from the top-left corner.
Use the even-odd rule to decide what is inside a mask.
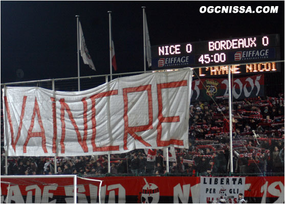
[[[77,77],[76,17],[97,71],[109,73],[108,13],[112,11],[118,70],[143,71],[143,12],[150,44],[280,34],[284,59],[283,1],[1,1],[1,83]],[[201,6],[279,6],[276,14],[207,14]],[[17,70],[23,70],[24,76]]]

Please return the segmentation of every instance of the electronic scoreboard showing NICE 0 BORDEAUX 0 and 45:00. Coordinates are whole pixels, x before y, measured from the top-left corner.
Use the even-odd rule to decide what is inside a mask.
[[[278,34],[259,35],[241,38],[228,38],[187,43],[173,43],[151,46],[152,69],[173,67],[218,67],[226,64],[267,62],[280,59]],[[261,64],[261,65],[260,65]],[[276,71],[276,64],[254,65],[256,70]],[[270,67],[273,67],[271,70]],[[241,70],[246,69],[242,66]],[[246,72],[245,72],[246,73]]]

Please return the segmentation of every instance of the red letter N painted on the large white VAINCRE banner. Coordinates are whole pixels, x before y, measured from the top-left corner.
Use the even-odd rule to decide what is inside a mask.
[[[86,103],[84,103],[85,98],[82,99],[83,102],[83,112],[84,109],[87,109],[87,105]],[[61,121],[61,139],[60,139],[60,145],[61,145],[61,153],[64,154],[65,151],[65,147],[64,147],[64,139],[65,139],[65,122],[64,122],[64,109],[67,110],[69,119],[71,120],[72,125],[74,126],[74,130],[76,132],[77,135],[77,140],[78,143],[80,144],[80,146],[82,147],[84,152],[88,152],[88,147],[86,144],[86,139],[87,139],[87,126],[84,124],[84,135],[83,135],[83,140],[81,139],[81,134],[79,133],[79,129],[78,126],[73,118],[72,112],[70,111],[69,106],[67,105],[67,103],[64,102],[64,98],[59,99],[60,102],[60,121]],[[86,116],[86,115],[85,115]],[[84,115],[83,115],[84,117]],[[85,120],[85,119],[84,119]],[[85,134],[86,133],[86,134]]]

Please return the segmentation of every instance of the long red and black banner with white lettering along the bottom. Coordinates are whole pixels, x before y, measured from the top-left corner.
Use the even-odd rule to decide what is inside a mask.
[[[77,177],[78,203],[216,203],[227,198],[247,203],[284,203],[284,176],[194,177],[194,176],[106,176]],[[73,177],[1,176],[1,202],[73,203]],[[9,184],[13,184],[10,185]],[[9,192],[8,192],[9,191]],[[9,195],[9,196],[7,196]]]

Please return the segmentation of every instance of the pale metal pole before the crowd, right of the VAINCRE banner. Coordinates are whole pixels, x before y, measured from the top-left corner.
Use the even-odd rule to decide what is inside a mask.
[[[229,73],[228,73],[228,81],[229,81],[229,122],[230,122],[230,173],[233,173],[233,155],[232,155],[232,90],[231,90],[231,66],[229,65]]]

